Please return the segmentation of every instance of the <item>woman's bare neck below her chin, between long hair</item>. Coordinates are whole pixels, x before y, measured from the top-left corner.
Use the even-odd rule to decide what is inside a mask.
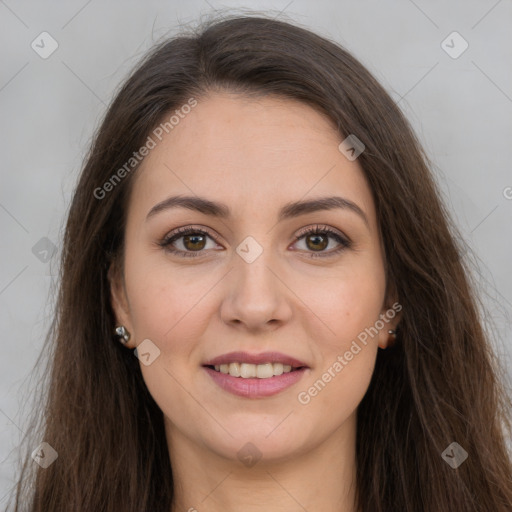
[[[237,450],[226,457],[172,425],[166,432],[175,489],[171,512],[357,512],[355,413],[323,442],[287,457],[263,456],[251,467],[238,460]]]

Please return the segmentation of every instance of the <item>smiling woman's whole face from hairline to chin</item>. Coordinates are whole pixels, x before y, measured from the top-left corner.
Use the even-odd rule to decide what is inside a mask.
[[[279,460],[355,418],[398,316],[371,191],[341,140],[303,103],[215,94],[137,171],[113,306],[131,348],[149,340],[141,371],[171,444],[236,459],[251,442]],[[173,196],[220,207],[166,203]],[[330,197],[342,200],[290,207]],[[284,373],[216,371],[212,360],[233,352],[245,353],[233,363],[272,352],[259,362],[283,366],[219,369]]]

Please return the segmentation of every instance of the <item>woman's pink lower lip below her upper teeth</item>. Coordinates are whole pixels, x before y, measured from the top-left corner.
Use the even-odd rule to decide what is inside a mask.
[[[222,373],[203,367],[210,377],[225,391],[245,398],[264,398],[276,395],[298,382],[309,368],[302,368],[293,372],[274,375],[268,379],[244,379],[232,377],[229,373]]]

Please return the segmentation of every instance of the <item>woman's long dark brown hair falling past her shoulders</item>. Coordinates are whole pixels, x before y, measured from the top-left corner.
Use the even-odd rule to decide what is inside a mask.
[[[340,140],[355,134],[365,145],[358,161],[403,309],[397,341],[378,352],[358,408],[358,510],[509,511],[510,396],[428,157],[346,50],[295,24],[246,16],[210,20],[157,45],[98,129],[67,219],[40,424],[27,430],[14,510],[171,509],[162,412],[137,358],[112,336],[108,271],[122,261],[136,166],[101,198],[94,191],[170,112],[215,90],[305,102],[333,121]],[[46,469],[29,453],[40,441],[58,453]],[[453,442],[468,453],[456,469],[442,456]]]

